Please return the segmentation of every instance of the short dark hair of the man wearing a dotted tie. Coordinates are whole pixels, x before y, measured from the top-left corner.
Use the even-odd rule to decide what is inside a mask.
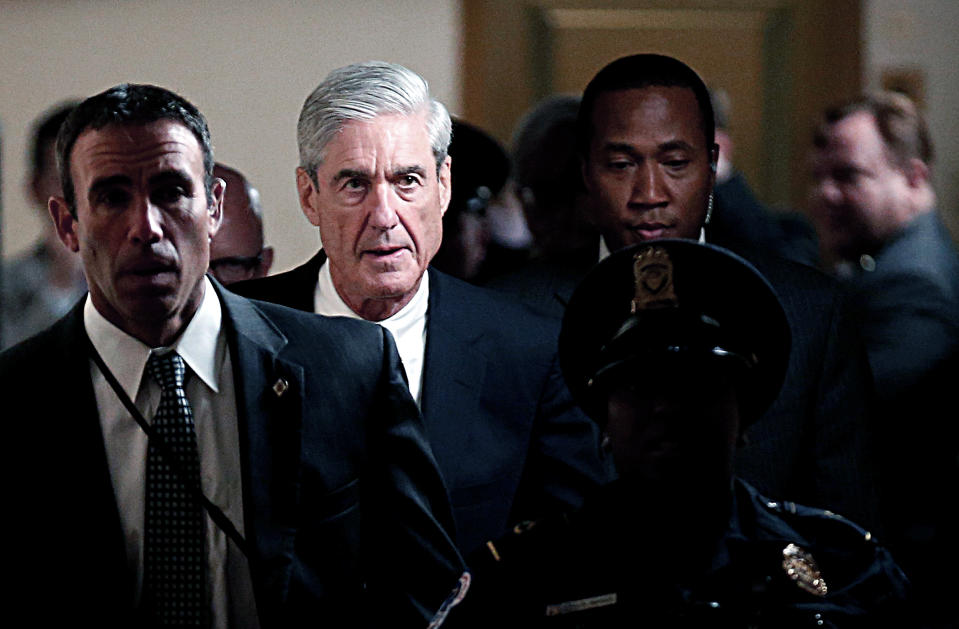
[[[57,165],[63,197],[76,216],[76,193],[70,173],[70,152],[80,134],[87,129],[108,125],[145,125],[172,120],[189,129],[203,149],[204,188],[207,203],[213,200],[213,146],[210,129],[203,114],[188,100],[155,85],[123,83],[91,96],[76,106],[60,127],[57,136]]]

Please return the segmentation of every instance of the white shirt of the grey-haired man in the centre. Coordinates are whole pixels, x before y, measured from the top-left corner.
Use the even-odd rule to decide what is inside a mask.
[[[420,403],[423,382],[423,362],[426,354],[426,310],[429,306],[430,276],[423,274],[423,280],[416,294],[408,304],[392,317],[376,321],[393,335],[396,349],[403,361],[406,378],[410,382],[410,394],[416,403]],[[313,296],[313,311],[328,317],[351,317],[360,319],[360,315],[346,305],[333,286],[329,261],[320,267],[320,277],[316,282]]]

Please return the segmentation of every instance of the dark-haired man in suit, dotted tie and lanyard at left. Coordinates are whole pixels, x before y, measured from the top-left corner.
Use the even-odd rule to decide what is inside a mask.
[[[204,274],[224,183],[181,97],[93,96],[58,158],[50,213],[90,292],[0,355],[7,399],[31,409],[4,457],[29,470],[6,476],[7,608],[123,627],[442,617],[462,563],[390,336]]]

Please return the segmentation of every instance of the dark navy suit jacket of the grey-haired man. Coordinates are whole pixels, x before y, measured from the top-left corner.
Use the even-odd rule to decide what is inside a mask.
[[[312,312],[325,260],[321,251],[292,271],[230,288]],[[517,521],[579,506],[609,468],[559,371],[557,322],[429,274],[422,411],[465,554]]]

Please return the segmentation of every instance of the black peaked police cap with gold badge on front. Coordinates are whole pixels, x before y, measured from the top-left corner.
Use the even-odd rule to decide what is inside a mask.
[[[566,308],[559,358],[573,397],[600,423],[611,382],[665,372],[733,376],[745,426],[779,394],[789,347],[782,305],[751,264],[720,247],[657,240],[590,271]]]

